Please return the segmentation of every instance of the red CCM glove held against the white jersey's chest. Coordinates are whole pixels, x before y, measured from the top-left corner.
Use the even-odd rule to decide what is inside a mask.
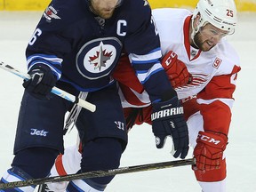
[[[188,73],[188,68],[181,60],[178,60],[178,55],[175,52],[167,52],[161,64],[173,88],[186,85],[192,81],[192,76]]]

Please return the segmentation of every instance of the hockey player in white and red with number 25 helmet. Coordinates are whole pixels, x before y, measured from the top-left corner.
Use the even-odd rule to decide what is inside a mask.
[[[236,4],[233,0],[200,0],[193,13],[185,9],[164,8],[154,10],[153,16],[165,55],[162,65],[183,103],[190,145],[196,158],[193,166],[196,180],[204,192],[225,192],[227,170],[224,151],[228,144],[236,76],[240,70],[236,51],[225,36],[235,32]],[[182,67],[184,64],[187,68]],[[121,66],[118,65],[116,70],[124,70],[125,64],[123,68]],[[192,76],[190,81],[188,73]],[[122,89],[120,96],[130,125],[151,124],[152,107],[147,92],[136,79],[132,80],[133,84],[127,84],[124,77],[115,74],[114,77]],[[137,116],[132,113],[135,110],[140,111]],[[68,148],[65,155],[56,160],[52,174],[76,172],[79,166],[74,159],[79,164],[77,148]],[[63,191],[65,183],[51,188]]]

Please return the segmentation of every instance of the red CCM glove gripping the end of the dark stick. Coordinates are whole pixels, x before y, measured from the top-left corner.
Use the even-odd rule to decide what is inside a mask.
[[[218,132],[199,132],[196,140],[194,170],[210,171],[220,169],[223,151],[228,144],[228,137]]]

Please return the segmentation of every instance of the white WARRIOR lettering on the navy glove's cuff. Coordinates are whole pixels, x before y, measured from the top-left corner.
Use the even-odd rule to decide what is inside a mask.
[[[164,108],[165,108],[165,106],[164,106]],[[181,115],[181,114],[184,114],[183,107],[166,108],[164,110],[152,113],[151,120],[154,121],[155,119],[163,118],[166,116],[176,116],[176,115]]]

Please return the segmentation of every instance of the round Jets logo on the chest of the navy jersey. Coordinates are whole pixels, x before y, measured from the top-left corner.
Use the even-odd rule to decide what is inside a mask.
[[[115,68],[122,43],[116,37],[93,39],[76,54],[76,68],[87,79],[108,76]]]

